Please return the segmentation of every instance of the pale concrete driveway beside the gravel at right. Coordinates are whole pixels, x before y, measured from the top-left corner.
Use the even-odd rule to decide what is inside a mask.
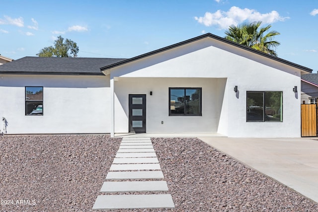
[[[198,138],[318,203],[318,138]]]

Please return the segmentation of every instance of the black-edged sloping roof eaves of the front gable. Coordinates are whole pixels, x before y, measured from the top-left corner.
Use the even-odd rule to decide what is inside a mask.
[[[300,69],[300,70],[303,70],[303,71],[307,71],[307,72],[310,72],[310,73],[313,71],[312,69],[309,69],[309,68],[307,68],[307,67],[304,67],[304,66],[300,66],[300,65],[291,63],[291,62],[289,62],[289,61],[286,61],[286,60],[283,60],[283,59],[280,59],[280,58],[271,56],[271,55],[269,55],[269,54],[265,54],[265,53],[263,53],[263,52],[260,52],[260,51],[254,50],[254,49],[252,49],[252,48],[249,48],[249,47],[247,47],[247,46],[244,46],[244,45],[241,45],[241,44],[238,44],[238,43],[229,41],[229,40],[227,40],[227,39],[225,39],[225,38],[222,38],[222,37],[213,35],[213,34],[211,34],[211,33],[207,33],[207,34],[204,34],[204,35],[201,35],[201,36],[198,36],[198,37],[195,37],[195,38],[192,38],[192,39],[189,39],[189,40],[186,40],[186,41],[177,43],[177,44],[173,44],[173,45],[171,45],[171,46],[167,46],[167,47],[164,47],[164,48],[161,48],[161,49],[158,49],[158,50],[155,50],[155,51],[152,51],[152,52],[149,52],[149,53],[146,53],[146,54],[143,54],[143,55],[140,55],[140,56],[131,58],[131,59],[127,59],[127,60],[124,60],[124,61],[120,61],[120,62],[115,63],[115,64],[106,65],[106,66],[100,68],[100,71],[105,71],[105,70],[108,70],[108,69],[111,69],[111,68],[114,68],[114,67],[118,67],[118,66],[121,66],[121,65],[130,63],[130,62],[134,62],[134,61],[137,61],[137,60],[139,60],[139,59],[143,59],[143,58],[146,58],[146,57],[149,57],[149,56],[152,56],[152,55],[155,55],[155,54],[164,52],[164,51],[166,51],[166,50],[173,49],[173,48],[176,48],[176,47],[179,47],[179,46],[182,46],[182,45],[185,45],[185,44],[188,44],[188,43],[191,43],[191,42],[200,40],[200,39],[208,38],[208,37],[209,37],[209,38],[216,39],[216,40],[221,41],[221,42],[224,42],[224,43],[226,43],[226,44],[230,44],[230,45],[239,47],[239,48],[241,48],[241,49],[244,49],[244,50],[253,52],[253,53],[255,53],[255,54],[258,54],[258,55],[261,55],[261,56],[270,58],[270,59],[272,59],[272,60],[274,60],[274,61],[278,61],[278,62],[280,62],[280,63],[289,65],[289,66],[291,66],[291,67],[294,67],[294,68],[297,68],[297,69]]]

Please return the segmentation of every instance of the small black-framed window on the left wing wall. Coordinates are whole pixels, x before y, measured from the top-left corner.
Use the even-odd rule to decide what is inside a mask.
[[[43,115],[43,87],[25,87],[25,115]]]

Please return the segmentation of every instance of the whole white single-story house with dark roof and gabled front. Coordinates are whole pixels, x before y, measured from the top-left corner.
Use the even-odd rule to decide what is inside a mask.
[[[301,137],[312,70],[213,34],[131,59],[25,57],[0,66],[7,134]]]

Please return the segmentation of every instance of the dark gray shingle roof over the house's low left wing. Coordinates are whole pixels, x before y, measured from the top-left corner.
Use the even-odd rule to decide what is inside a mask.
[[[100,67],[126,59],[24,57],[0,66],[0,74],[104,75]]]

